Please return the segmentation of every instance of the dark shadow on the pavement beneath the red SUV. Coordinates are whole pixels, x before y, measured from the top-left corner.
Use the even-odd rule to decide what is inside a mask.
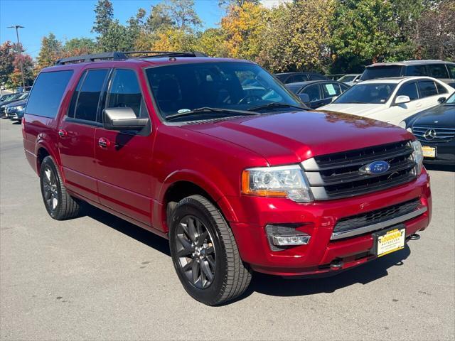
[[[122,232],[128,237],[134,238],[138,242],[153,247],[167,256],[171,256],[168,241],[166,239],[96,207],[85,205],[83,211],[88,217]],[[384,256],[380,259],[375,259],[354,269],[342,271],[335,276],[325,278],[289,279],[280,276],[255,273],[247,291],[239,298],[230,301],[227,304],[241,301],[255,291],[270,296],[306,296],[316,293],[333,293],[340,288],[351,286],[355,283],[367,284],[378,278],[387,276],[387,269],[392,266],[401,266],[403,261],[407,259],[410,254],[410,247],[406,244],[405,249],[396,251],[393,254]]]

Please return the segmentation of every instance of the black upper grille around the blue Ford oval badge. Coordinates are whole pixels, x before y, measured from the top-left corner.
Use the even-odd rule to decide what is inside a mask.
[[[353,197],[384,190],[414,180],[416,163],[410,141],[400,141],[310,158],[302,163],[315,200]],[[370,175],[360,172],[373,161],[387,161],[386,173]]]

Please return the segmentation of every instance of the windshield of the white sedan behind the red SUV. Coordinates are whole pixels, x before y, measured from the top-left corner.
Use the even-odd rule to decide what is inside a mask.
[[[333,103],[385,104],[395,87],[396,84],[390,83],[360,83],[343,92]]]

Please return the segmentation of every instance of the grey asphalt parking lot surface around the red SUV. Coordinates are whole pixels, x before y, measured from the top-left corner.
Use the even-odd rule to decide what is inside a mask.
[[[57,222],[0,120],[1,340],[454,340],[455,172],[405,249],[331,278],[256,274],[233,303],[186,294],[164,239],[95,208]]]

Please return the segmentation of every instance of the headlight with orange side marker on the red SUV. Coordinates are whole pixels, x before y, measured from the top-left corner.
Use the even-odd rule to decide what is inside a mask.
[[[242,193],[261,197],[289,197],[312,201],[309,185],[298,165],[249,168],[242,173]]]

